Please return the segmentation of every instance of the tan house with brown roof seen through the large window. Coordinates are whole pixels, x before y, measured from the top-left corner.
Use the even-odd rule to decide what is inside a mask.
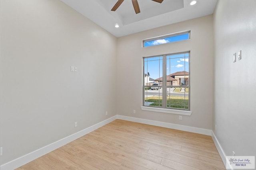
[[[167,86],[188,85],[189,73],[186,71],[174,72],[167,76]],[[157,78],[156,82],[163,84],[163,77]]]

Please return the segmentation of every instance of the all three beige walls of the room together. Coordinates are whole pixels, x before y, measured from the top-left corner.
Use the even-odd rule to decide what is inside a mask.
[[[220,0],[214,19],[118,39],[58,0],[0,4],[0,164],[116,114],[204,129],[216,124],[227,155],[255,155],[254,0]],[[188,41],[141,47],[142,39],[186,30]],[[240,49],[242,60],[232,63]],[[182,51],[191,51],[192,115],[179,121],[178,115],[142,111],[142,57]]]

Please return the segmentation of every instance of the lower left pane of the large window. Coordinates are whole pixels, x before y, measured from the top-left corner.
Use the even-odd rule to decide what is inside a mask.
[[[144,106],[162,107],[162,88],[151,90],[145,87]]]

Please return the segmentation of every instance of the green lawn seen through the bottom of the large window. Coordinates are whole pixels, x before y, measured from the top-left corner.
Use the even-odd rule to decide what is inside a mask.
[[[162,97],[158,98],[154,96],[154,97],[145,98],[145,102],[154,102],[150,104],[150,106],[162,107]],[[168,96],[167,107],[188,109],[188,97],[184,98],[182,96]]]

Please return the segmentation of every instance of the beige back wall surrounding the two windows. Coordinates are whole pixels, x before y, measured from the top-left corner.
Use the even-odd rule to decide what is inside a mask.
[[[191,30],[191,39],[187,41],[142,48],[143,39],[188,30]],[[192,115],[183,116],[179,121],[178,115],[142,111],[142,57],[183,51],[191,51]],[[117,55],[117,114],[212,129],[212,15],[120,37]]]

